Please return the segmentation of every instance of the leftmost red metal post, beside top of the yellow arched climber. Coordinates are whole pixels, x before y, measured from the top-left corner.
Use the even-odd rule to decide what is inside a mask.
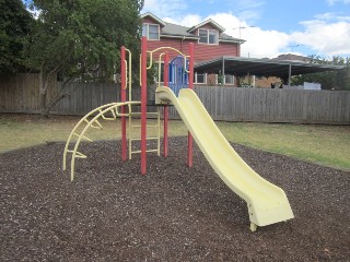
[[[126,66],[125,66],[125,47],[120,48],[120,73],[121,73],[121,85],[120,85],[120,100],[126,102],[127,99],[127,79],[126,79]],[[121,112],[126,112],[125,106],[121,107]],[[121,158],[127,159],[127,120],[126,117],[121,117]]]

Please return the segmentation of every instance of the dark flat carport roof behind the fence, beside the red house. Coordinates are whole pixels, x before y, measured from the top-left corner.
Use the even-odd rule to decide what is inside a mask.
[[[225,56],[195,66],[195,70],[199,73],[219,73],[224,71],[225,74],[235,74],[237,76],[250,74],[257,76],[279,76],[281,79],[288,79],[291,75],[341,70],[343,68],[342,66],[315,64],[290,60],[281,61]]]

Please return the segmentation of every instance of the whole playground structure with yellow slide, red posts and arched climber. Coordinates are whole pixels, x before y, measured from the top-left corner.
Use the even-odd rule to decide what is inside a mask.
[[[194,46],[189,46],[189,56],[170,48],[158,48],[153,51],[147,51],[147,40],[142,38],[141,48],[141,102],[131,100],[131,63],[127,67],[125,60],[125,48],[121,48],[121,102],[113,103],[89,112],[75,126],[70,134],[65,153],[63,153],[63,169],[66,169],[67,153],[72,154],[71,158],[71,179],[74,174],[74,159],[86,158],[86,156],[78,152],[80,141],[89,138],[84,135],[89,128],[102,128],[98,118],[106,120],[115,120],[117,117],[121,118],[121,144],[122,144],[122,159],[126,160],[127,153],[127,136],[126,136],[126,117],[129,117],[129,124],[132,121],[130,117],[135,114],[141,116],[141,150],[133,153],[141,153],[141,172],[145,174],[145,154],[147,152],[158,152],[160,155],[160,135],[158,139],[158,150],[147,150],[147,69],[152,67],[153,55],[158,53],[161,58],[164,56],[164,86],[155,90],[155,104],[164,106],[164,156],[167,155],[167,107],[173,105],[178,111],[180,118],[184,120],[189,130],[188,133],[188,157],[187,165],[192,165],[192,138],[202,151],[203,155],[215,170],[219,177],[226,183],[226,186],[237,195],[247,202],[248,215],[250,219],[250,230],[255,231],[258,226],[267,226],[270,224],[283,222],[293,218],[293,212],[282,189],[270,183],[256,174],[232,148],[230,143],[218,129],[214,121],[206,110],[205,106],[192,91],[192,75],[194,75]],[[168,51],[177,53],[168,63]],[[129,52],[129,51],[128,51]],[[150,64],[147,66],[147,55],[149,53]],[[129,52],[129,61],[131,53]],[[126,100],[127,86],[127,68],[129,69],[129,100]],[[171,72],[171,73],[170,73]],[[161,73],[159,73],[159,79]],[[160,81],[159,81],[160,82]],[[133,112],[132,106],[141,106],[141,112]],[[120,109],[119,109],[120,108]],[[126,110],[128,108],[128,110]],[[112,115],[107,117],[106,114]],[[160,111],[158,111],[158,119],[160,119]],[[91,119],[91,120],[89,120]],[[75,131],[85,124],[81,133]],[[160,120],[158,121],[158,128]],[[130,128],[129,128],[130,132]],[[159,131],[160,134],[160,131]],[[69,150],[69,144],[73,136],[78,136],[75,145]],[[155,138],[149,138],[155,139]],[[131,141],[129,136],[129,158],[131,158]]]

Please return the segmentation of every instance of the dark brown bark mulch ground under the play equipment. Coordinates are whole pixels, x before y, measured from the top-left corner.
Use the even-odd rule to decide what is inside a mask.
[[[62,143],[0,155],[0,261],[350,261],[350,172],[234,145],[281,187],[295,218],[249,230],[246,203],[186,139],[170,157],[122,163],[119,142],[83,144],[70,182]]]

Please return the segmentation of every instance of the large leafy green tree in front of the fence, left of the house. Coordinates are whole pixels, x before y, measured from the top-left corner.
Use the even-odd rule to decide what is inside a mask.
[[[40,72],[40,111],[50,109],[68,95],[77,78],[91,80],[91,71],[108,81],[119,68],[119,49],[125,45],[139,52],[142,0],[33,0],[38,13],[27,45],[30,66]],[[139,56],[133,56],[138,64]],[[48,98],[50,82],[63,80],[56,97]]]

